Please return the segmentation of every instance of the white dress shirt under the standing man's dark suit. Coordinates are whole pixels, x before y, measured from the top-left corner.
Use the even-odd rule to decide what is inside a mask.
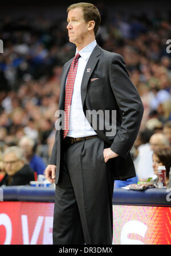
[[[83,112],[82,97],[81,97],[81,84],[83,79],[84,70],[86,68],[89,56],[96,46],[96,40],[89,43],[81,51],[79,51],[80,58],[78,62],[78,69],[76,72],[76,78],[74,83],[74,90],[72,94],[70,119],[69,119],[69,132],[68,137],[86,137],[96,135],[97,133],[92,129],[88,123],[86,116]],[[76,54],[78,50],[76,49]],[[76,55],[75,54],[75,55]]]

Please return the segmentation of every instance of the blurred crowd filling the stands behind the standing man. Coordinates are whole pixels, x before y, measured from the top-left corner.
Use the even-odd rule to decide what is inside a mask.
[[[97,43],[123,55],[144,104],[140,132],[131,152],[137,180],[144,181],[154,174],[152,144],[171,145],[171,53],[166,51],[166,41],[171,39],[170,18],[158,13],[119,13],[109,18],[103,6],[99,9],[102,22]],[[36,175],[43,174],[46,168],[54,143],[62,67],[75,54],[66,26],[65,19],[40,15],[34,19],[1,18],[1,173],[5,170],[2,153],[13,146],[23,149],[25,160]],[[157,142],[150,142],[154,133],[159,135]],[[160,144],[161,134],[164,143]],[[145,161],[146,157],[151,160]]]

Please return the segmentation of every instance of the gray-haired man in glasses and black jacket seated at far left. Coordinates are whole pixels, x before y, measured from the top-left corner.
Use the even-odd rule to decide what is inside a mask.
[[[34,172],[29,165],[25,164],[21,148],[17,146],[6,148],[3,153],[3,162],[6,174],[0,186],[27,185],[34,180]]]

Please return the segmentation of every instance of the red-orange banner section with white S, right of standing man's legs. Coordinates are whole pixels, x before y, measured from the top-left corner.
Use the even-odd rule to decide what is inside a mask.
[[[113,244],[170,245],[171,208],[113,205]]]

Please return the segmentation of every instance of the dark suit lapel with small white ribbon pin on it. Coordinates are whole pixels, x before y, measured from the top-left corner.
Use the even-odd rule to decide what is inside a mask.
[[[87,94],[87,86],[88,86],[88,81],[89,78],[92,75],[92,72],[96,66],[96,63],[98,62],[99,58],[98,56],[100,55],[100,47],[96,45],[94,50],[92,51],[92,54],[90,55],[86,68],[84,70],[83,74],[83,79],[82,79],[82,85],[81,85],[81,96],[82,96],[82,105],[84,106],[84,101],[86,99],[86,94]]]

